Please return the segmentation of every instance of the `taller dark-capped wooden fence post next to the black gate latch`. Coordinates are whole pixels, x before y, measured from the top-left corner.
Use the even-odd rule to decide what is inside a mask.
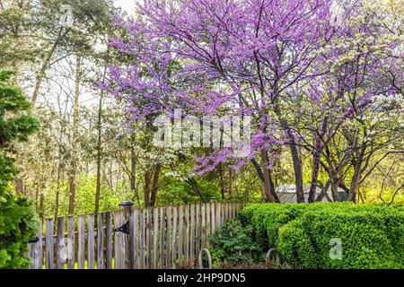
[[[121,202],[119,208],[123,209],[125,222],[129,227],[129,234],[125,236],[125,269],[133,269],[135,264],[133,203],[130,201]]]

